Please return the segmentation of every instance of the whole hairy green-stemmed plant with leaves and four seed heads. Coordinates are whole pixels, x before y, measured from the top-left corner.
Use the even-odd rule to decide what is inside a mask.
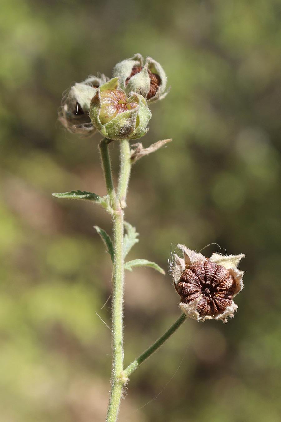
[[[232,298],[242,289],[243,272],[237,269],[244,255],[222,256],[213,254],[205,258],[202,254],[178,245],[184,259],[174,254],[171,272],[179,296],[182,315],[155,343],[137,357],[127,368],[123,368],[123,287],[124,270],[149,266],[165,274],[155,262],[136,259],[125,262],[126,255],[138,241],[136,230],[124,221],[124,208],[131,167],[145,155],[166,145],[171,139],[153,143],[143,148],[142,143],[130,140],[147,133],[151,112],[148,103],[163,99],[167,89],[167,78],[158,62],[147,57],[145,63],[140,54],[123,60],[113,68],[113,78],[104,75],[89,76],[75,84],[64,97],[59,108],[59,120],[72,133],[88,136],[99,131],[103,135],[99,143],[102,169],[107,195],[100,197],[91,192],[72,191],[54,193],[67,199],[91,200],[102,206],[113,222],[113,241],[100,227],[95,226],[113,263],[112,271],[112,387],[107,422],[118,418],[120,398],[131,373],[155,352],[182,325],[186,317],[198,321],[233,317],[236,304]],[[118,186],[112,180],[108,145],[118,141],[120,145],[120,169]],[[124,233],[126,232],[126,233]]]

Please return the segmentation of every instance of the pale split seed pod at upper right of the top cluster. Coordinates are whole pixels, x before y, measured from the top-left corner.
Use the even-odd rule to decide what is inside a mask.
[[[126,94],[137,92],[145,97],[148,103],[162,100],[169,92],[166,89],[167,76],[162,66],[151,57],[147,57],[145,64],[141,54],[135,54],[128,60],[115,65],[113,76],[119,76],[119,86]]]

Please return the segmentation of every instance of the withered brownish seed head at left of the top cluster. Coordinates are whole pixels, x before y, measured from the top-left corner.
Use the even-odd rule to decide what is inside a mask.
[[[96,132],[89,117],[91,99],[96,94],[97,88],[104,84],[108,78],[90,75],[83,82],[76,83],[67,92],[59,108],[59,121],[72,133],[80,133],[84,136]]]

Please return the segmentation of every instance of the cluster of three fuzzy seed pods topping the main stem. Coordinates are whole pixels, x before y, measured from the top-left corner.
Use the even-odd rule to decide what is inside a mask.
[[[112,140],[139,139],[148,130],[151,112],[147,103],[161,100],[168,90],[161,65],[140,54],[123,60],[113,78],[89,76],[76,83],[64,97],[59,120],[72,133],[87,136],[98,130]]]

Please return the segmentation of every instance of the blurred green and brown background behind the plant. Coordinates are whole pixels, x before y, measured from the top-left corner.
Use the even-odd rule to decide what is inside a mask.
[[[0,36],[0,421],[105,419],[111,262],[93,225],[110,233],[110,217],[51,196],[105,194],[100,136],[66,133],[57,108],[137,52],[171,85],[143,143],[173,142],[133,168],[129,258],[167,269],[177,243],[217,242],[246,273],[235,318],[188,320],[131,376],[119,420],[280,421],[280,0],[2,0]],[[177,303],[169,274],[126,274],[125,364]]]

